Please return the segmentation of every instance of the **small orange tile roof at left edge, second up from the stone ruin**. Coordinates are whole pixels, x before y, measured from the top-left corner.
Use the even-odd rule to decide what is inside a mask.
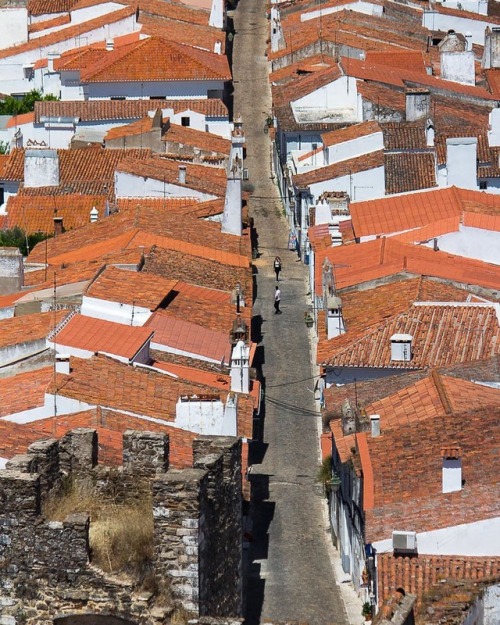
[[[43,369],[36,369],[36,371],[0,378],[0,396],[2,397],[0,417],[41,406],[45,389],[53,375],[53,367],[44,367]],[[0,426],[2,423],[3,421],[0,420]],[[0,439],[2,438],[0,437]]]

